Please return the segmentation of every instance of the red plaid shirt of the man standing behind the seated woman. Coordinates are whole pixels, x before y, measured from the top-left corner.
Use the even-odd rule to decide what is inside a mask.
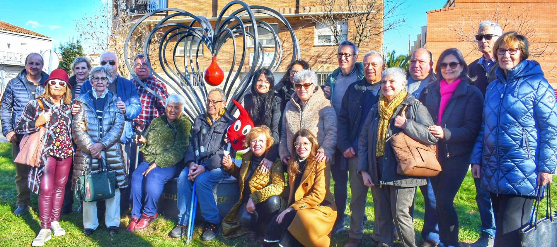
[[[161,100],[152,95],[152,93],[147,91],[143,86],[139,85],[135,79],[132,79],[131,82],[138,88],[139,100],[141,101],[141,112],[139,116],[134,119],[134,122],[139,125],[138,129],[143,131],[155,117],[159,117],[165,113],[164,108],[168,98],[167,86],[153,76],[149,76],[146,81],[143,82],[150,90],[158,93],[158,95],[163,98]]]

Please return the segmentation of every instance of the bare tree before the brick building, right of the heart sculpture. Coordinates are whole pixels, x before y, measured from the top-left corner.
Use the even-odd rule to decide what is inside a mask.
[[[318,0],[315,6],[302,7],[302,11],[309,13],[304,19],[311,19],[334,34],[328,40],[334,46],[348,38],[360,47],[369,45],[370,37],[402,26],[405,19],[400,11],[404,8],[404,0]],[[339,22],[348,25],[348,37],[341,35]]]

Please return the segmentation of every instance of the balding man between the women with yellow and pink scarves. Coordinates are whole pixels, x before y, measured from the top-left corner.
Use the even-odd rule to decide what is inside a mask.
[[[408,71],[408,84],[406,91],[412,96],[419,98],[422,90],[430,82],[435,81],[433,73],[433,55],[424,48],[419,48],[412,53],[410,57],[410,68]],[[433,194],[431,182],[427,179],[427,185],[419,186],[422,191],[425,204],[424,224],[422,229],[422,238],[424,239],[422,246],[436,246],[439,243],[439,226],[437,225],[436,200]],[[412,205],[411,214],[413,215],[414,205]]]

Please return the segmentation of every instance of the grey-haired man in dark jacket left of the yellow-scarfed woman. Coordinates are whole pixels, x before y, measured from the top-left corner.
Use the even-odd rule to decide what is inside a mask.
[[[377,105],[381,95],[381,73],[385,68],[383,56],[377,51],[365,54],[364,76],[360,81],[351,83],[344,93],[338,118],[338,140],[336,145],[342,150],[341,155],[335,157],[335,165],[341,170],[350,172],[350,189],[352,201],[350,202],[350,239],[344,247],[357,247],[361,244],[364,235],[365,203],[368,195],[368,186],[364,185],[362,177],[358,174],[358,137],[360,136],[365,118],[372,106]],[[378,215],[375,215],[377,218]]]

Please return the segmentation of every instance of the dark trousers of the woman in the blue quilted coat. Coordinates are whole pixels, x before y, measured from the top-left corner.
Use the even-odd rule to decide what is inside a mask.
[[[519,230],[530,222],[534,197],[491,193],[495,215],[495,247],[520,247]]]

